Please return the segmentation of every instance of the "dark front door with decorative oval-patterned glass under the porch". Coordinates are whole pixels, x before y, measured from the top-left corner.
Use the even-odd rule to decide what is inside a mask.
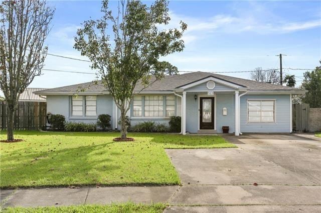
[[[200,129],[214,129],[214,97],[200,97]]]

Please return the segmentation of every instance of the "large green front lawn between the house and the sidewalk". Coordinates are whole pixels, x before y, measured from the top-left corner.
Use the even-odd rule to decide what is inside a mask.
[[[164,148],[235,147],[221,136],[129,133],[135,141],[112,141],[118,135],[16,131],[25,141],[0,143],[0,187],[180,184]]]

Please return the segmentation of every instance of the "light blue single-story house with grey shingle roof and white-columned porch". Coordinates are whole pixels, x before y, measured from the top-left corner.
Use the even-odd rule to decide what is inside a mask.
[[[137,84],[128,116],[131,125],[152,120],[168,123],[182,116],[182,134],[222,132],[291,132],[292,94],[306,90],[207,72],[191,72]],[[80,91],[82,90],[82,91]],[[84,90],[84,91],[83,91]],[[80,92],[78,92],[80,91]],[[100,83],[81,83],[36,91],[46,95],[47,112],[67,121],[96,122],[109,114],[113,129],[120,112]],[[75,94],[77,94],[75,96]]]

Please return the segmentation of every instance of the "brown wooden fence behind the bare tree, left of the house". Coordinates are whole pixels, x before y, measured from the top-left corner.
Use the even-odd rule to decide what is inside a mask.
[[[15,112],[15,129],[39,129],[47,123],[47,103],[33,101],[19,101]],[[7,105],[0,102],[0,129],[7,128]]]

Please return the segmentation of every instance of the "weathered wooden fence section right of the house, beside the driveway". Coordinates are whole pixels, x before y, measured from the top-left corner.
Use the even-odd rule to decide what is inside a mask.
[[[295,131],[309,131],[309,112],[308,103],[292,104],[292,128]]]

